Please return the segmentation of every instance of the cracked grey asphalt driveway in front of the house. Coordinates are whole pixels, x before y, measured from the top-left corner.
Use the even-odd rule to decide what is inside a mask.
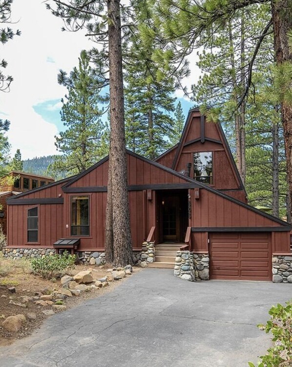
[[[290,284],[188,282],[145,269],[0,348],[1,367],[248,367],[270,346],[255,326]]]

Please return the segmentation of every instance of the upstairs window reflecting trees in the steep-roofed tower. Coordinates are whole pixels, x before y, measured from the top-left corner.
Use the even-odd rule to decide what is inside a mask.
[[[194,179],[202,184],[213,184],[212,152],[194,153]]]

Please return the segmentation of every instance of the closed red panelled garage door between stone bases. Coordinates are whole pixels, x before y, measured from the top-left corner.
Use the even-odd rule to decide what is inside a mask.
[[[271,234],[210,233],[210,278],[271,280]]]

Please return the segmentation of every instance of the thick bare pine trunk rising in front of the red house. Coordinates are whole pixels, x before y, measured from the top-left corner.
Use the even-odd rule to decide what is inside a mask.
[[[132,263],[132,239],[127,190],[125,111],[122,69],[120,0],[108,0],[108,53],[110,95],[109,180],[111,180],[114,265]],[[110,199],[109,199],[110,200]],[[110,215],[110,210],[107,210]],[[109,220],[106,221],[109,224]]]

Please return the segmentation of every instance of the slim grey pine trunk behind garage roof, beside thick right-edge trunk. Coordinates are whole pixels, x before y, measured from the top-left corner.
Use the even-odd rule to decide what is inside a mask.
[[[273,155],[272,155],[272,213],[279,216],[279,125],[272,126]]]

